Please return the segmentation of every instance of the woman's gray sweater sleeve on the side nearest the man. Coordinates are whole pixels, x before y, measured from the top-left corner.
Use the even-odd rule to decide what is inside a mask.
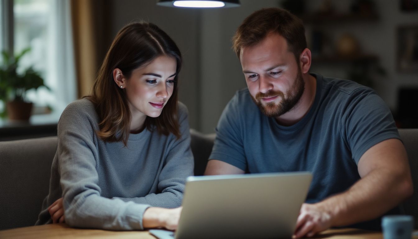
[[[154,207],[176,208],[181,206],[186,178],[193,175],[194,160],[190,149],[190,130],[186,106],[180,105],[179,123],[181,138],[172,137],[170,149],[158,176],[158,191],[145,197],[118,198]]]

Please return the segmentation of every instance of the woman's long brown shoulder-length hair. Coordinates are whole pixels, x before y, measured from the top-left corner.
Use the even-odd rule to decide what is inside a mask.
[[[131,113],[125,89],[120,89],[113,80],[113,70],[119,68],[126,78],[130,78],[134,69],[161,55],[174,57],[177,62],[173,94],[161,115],[156,118],[147,116],[144,126],[148,130],[156,128],[159,134],[172,133],[177,139],[180,138],[177,82],[182,63],[181,53],[167,33],[153,23],[141,21],[130,23],[117,33],[97,73],[92,95],[87,97],[94,103],[99,115],[97,135],[100,139],[107,142],[123,141],[126,146],[129,138]]]

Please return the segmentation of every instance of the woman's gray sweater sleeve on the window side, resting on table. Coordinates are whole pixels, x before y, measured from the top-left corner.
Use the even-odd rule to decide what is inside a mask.
[[[85,108],[70,104],[58,124],[57,156],[65,221],[82,228],[143,229],[142,217],[149,205],[100,196],[95,160],[99,157],[94,133],[97,122]]]

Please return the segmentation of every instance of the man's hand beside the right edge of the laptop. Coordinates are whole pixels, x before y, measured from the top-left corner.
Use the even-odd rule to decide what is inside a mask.
[[[331,214],[326,212],[319,204],[303,203],[296,222],[293,238],[314,236],[331,227]]]

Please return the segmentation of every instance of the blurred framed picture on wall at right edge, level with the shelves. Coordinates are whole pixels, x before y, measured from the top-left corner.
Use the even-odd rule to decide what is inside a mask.
[[[399,72],[418,72],[418,25],[398,27],[397,68]]]

